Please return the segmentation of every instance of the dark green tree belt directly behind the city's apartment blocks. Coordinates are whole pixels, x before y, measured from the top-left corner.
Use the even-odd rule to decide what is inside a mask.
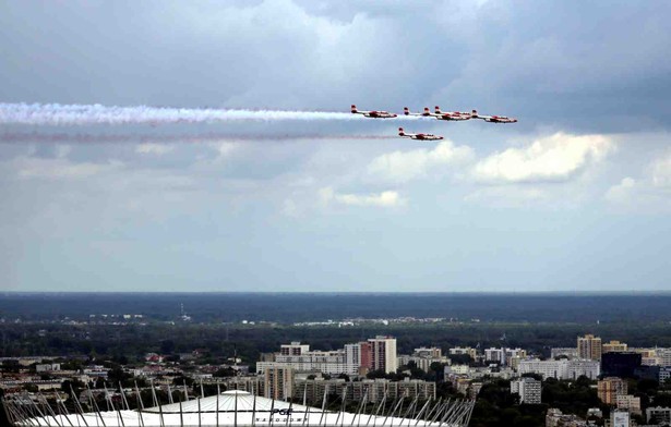
[[[595,333],[631,346],[671,346],[671,326],[650,324],[434,324],[369,325],[359,327],[293,327],[201,324],[148,325],[28,325],[0,324],[0,356],[92,355],[142,359],[148,352],[164,355],[197,350],[212,363],[237,352],[244,363],[260,353],[277,352],[280,344],[301,341],[315,350],[342,349],[378,334],[397,339],[398,352],[409,354],[422,345],[523,347],[544,357],[553,346],[575,346],[576,337]]]

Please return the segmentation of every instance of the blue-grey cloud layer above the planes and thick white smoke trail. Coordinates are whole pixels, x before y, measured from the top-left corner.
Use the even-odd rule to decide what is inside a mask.
[[[667,127],[670,12],[662,1],[3,2],[0,98],[440,103],[520,126]]]

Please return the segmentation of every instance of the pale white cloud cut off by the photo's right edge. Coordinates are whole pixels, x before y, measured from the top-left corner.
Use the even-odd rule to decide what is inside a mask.
[[[606,192],[606,199],[631,209],[671,209],[671,152],[651,161],[643,176],[626,176]]]

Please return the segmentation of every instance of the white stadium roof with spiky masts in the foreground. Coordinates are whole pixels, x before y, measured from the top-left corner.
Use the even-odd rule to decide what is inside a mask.
[[[410,400],[405,405],[396,404],[399,410],[387,415],[369,415],[340,411],[322,411],[319,407],[292,404],[284,401],[254,396],[245,391],[226,391],[218,395],[199,398],[191,401],[147,407],[143,411],[106,411],[84,414],[47,414],[35,410],[25,411],[4,400],[5,410],[15,426],[51,427],[168,427],[168,426],[414,426],[414,427],[456,427],[468,423],[474,401],[434,402],[427,404],[423,413],[415,407],[411,416]],[[439,407],[439,405],[441,405]],[[433,407],[435,416],[428,417]],[[22,416],[31,414],[32,416]],[[39,414],[40,416],[35,416]],[[423,415],[423,416],[422,416]]]

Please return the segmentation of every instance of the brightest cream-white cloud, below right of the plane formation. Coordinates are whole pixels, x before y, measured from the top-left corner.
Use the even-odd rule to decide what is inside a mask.
[[[472,175],[493,184],[567,181],[613,149],[608,136],[556,133],[526,148],[508,148],[480,160]]]

